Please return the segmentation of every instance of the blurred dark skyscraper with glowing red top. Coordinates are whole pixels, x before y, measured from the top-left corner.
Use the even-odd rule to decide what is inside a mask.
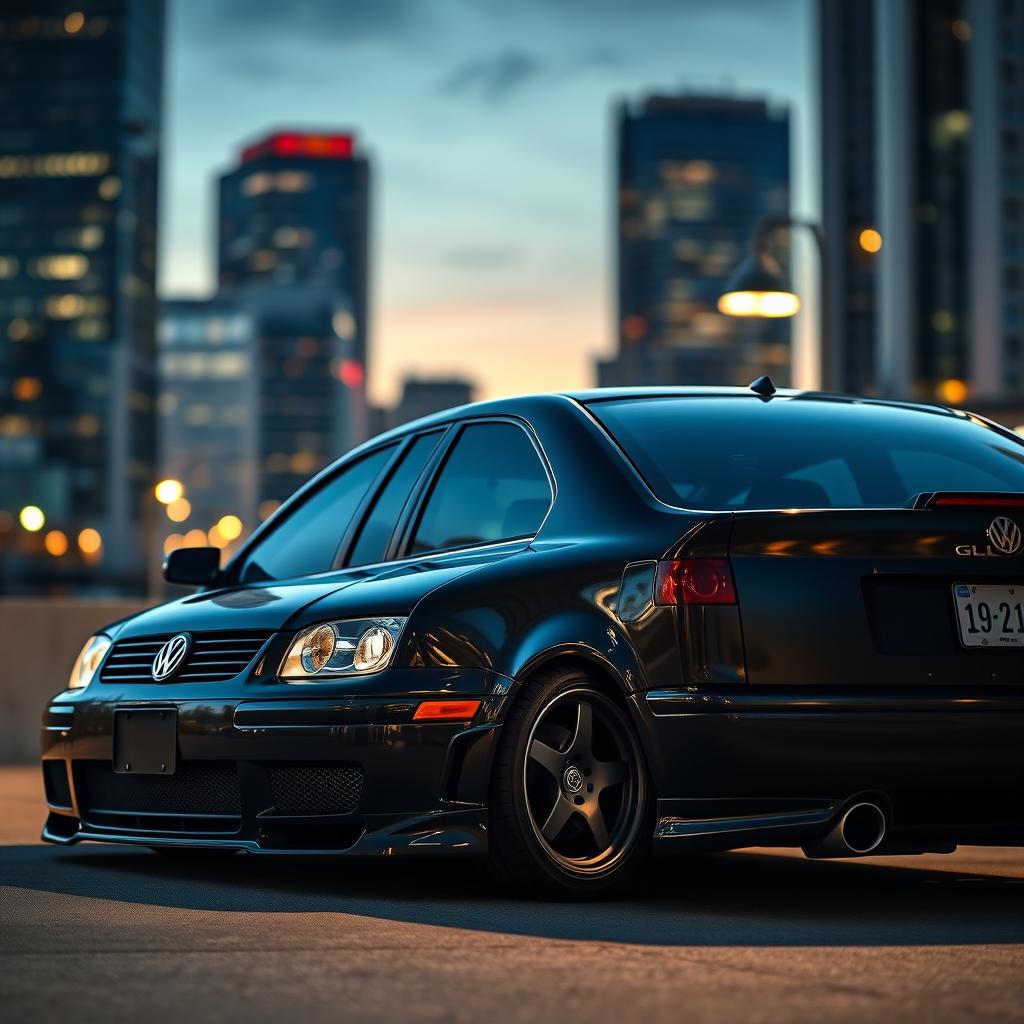
[[[350,134],[280,131],[219,183],[219,284],[252,317],[261,501],[367,436],[370,166]]]

